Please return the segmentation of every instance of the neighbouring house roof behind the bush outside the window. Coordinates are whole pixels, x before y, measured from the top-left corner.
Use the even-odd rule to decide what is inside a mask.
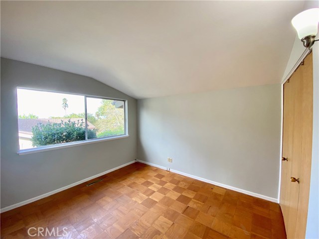
[[[83,122],[85,122],[84,118],[72,118],[72,122],[78,122],[78,120],[81,122],[83,119]],[[23,132],[32,132],[32,127],[37,125],[38,123],[46,124],[47,122],[50,123],[60,123],[62,121],[67,121],[69,118],[61,118],[61,119],[19,119],[19,131]],[[96,128],[92,123],[88,121],[88,128],[94,129]]]

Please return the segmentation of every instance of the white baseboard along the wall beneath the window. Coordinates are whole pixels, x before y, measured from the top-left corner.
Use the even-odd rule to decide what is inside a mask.
[[[72,187],[74,187],[74,186],[77,186],[77,185],[79,185],[79,184],[81,184],[81,183],[85,183],[85,182],[90,181],[90,180],[92,180],[92,179],[94,179],[94,178],[100,177],[100,176],[102,176],[102,175],[104,175],[104,174],[108,174],[108,173],[110,173],[110,172],[113,172],[113,171],[115,171],[115,170],[117,170],[117,169],[120,169],[120,168],[123,168],[123,167],[125,167],[125,166],[128,166],[128,165],[130,165],[130,164],[132,164],[132,163],[135,163],[135,162],[136,162],[136,161],[133,160],[133,161],[131,161],[131,162],[122,164],[122,165],[120,165],[120,166],[118,166],[118,167],[109,169],[109,170],[107,170],[107,171],[105,171],[105,172],[99,173],[99,174],[94,175],[94,176],[92,176],[92,177],[85,178],[85,179],[80,180],[80,181],[78,181],[78,182],[72,183],[72,184],[67,185],[67,186],[65,186],[65,187],[56,189],[56,190],[54,190],[54,191],[51,191],[51,192],[42,194],[42,195],[37,196],[37,197],[34,197],[34,198],[30,198],[30,199],[28,199],[28,200],[25,200],[25,201],[20,202],[20,203],[13,204],[13,205],[11,205],[11,206],[7,206],[7,207],[5,207],[5,208],[1,208],[1,209],[0,209],[0,212],[1,212],[1,213],[4,213],[4,212],[6,212],[6,211],[9,211],[9,210],[12,210],[12,209],[21,207],[21,206],[26,205],[26,204],[28,204],[28,203],[33,203],[33,202],[35,202],[35,201],[37,201],[37,200],[39,200],[39,199],[46,198],[46,197],[48,197],[48,196],[51,196],[51,195],[56,194],[56,193],[58,193],[58,192],[61,192],[61,191],[63,191],[63,190],[66,190],[66,189],[72,188]]]

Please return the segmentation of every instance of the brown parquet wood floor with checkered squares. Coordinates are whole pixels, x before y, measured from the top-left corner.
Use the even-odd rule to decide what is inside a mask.
[[[286,238],[276,203],[141,163],[101,178],[2,213],[1,238]]]

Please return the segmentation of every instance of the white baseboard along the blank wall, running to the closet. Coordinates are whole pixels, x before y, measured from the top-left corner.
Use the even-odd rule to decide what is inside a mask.
[[[154,164],[154,163],[150,163],[150,162],[142,161],[142,160],[138,160],[138,159],[137,159],[137,161],[140,162],[140,163],[148,164],[150,166],[154,166],[154,167],[166,170],[165,167],[157,165],[157,164]],[[211,181],[211,180],[208,180],[208,179],[205,179],[205,178],[197,177],[197,176],[194,176],[194,175],[191,175],[191,174],[188,174],[188,173],[183,173],[183,172],[180,172],[180,171],[177,171],[177,170],[174,170],[174,169],[170,169],[170,172],[177,173],[177,174],[189,177],[189,178],[197,179],[199,181],[210,183],[210,184],[213,184],[213,185],[216,185],[216,186],[219,186],[219,187],[227,188],[227,189],[239,192],[239,193],[244,193],[244,194],[256,197],[256,198],[261,198],[261,199],[264,199],[264,200],[267,200],[267,201],[270,201],[270,202],[278,203],[278,199],[277,198],[271,198],[271,197],[264,196],[264,195],[261,195],[261,194],[258,194],[258,193],[253,193],[253,192],[250,192],[250,191],[246,191],[246,190],[243,190],[243,189],[240,189],[240,188],[235,188],[233,186],[229,186],[229,185],[226,185],[226,184],[214,182],[214,181]]]

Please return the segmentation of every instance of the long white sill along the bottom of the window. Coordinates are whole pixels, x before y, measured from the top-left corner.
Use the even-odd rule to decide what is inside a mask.
[[[114,140],[114,139],[119,139],[119,138],[127,138],[127,137],[129,137],[129,135],[125,134],[125,135],[112,136],[112,137],[107,137],[107,138],[97,138],[97,139],[89,139],[86,141],[64,143],[64,144],[59,144],[59,145],[43,146],[43,147],[39,147],[39,148],[22,149],[22,150],[19,150],[17,152],[17,154],[25,155],[25,154],[30,154],[30,153],[38,153],[38,152],[44,152],[44,151],[49,151],[49,150],[54,150],[54,149],[68,148],[68,147],[80,146],[83,144],[97,143],[97,142],[103,142],[103,141],[109,141],[109,140]]]

